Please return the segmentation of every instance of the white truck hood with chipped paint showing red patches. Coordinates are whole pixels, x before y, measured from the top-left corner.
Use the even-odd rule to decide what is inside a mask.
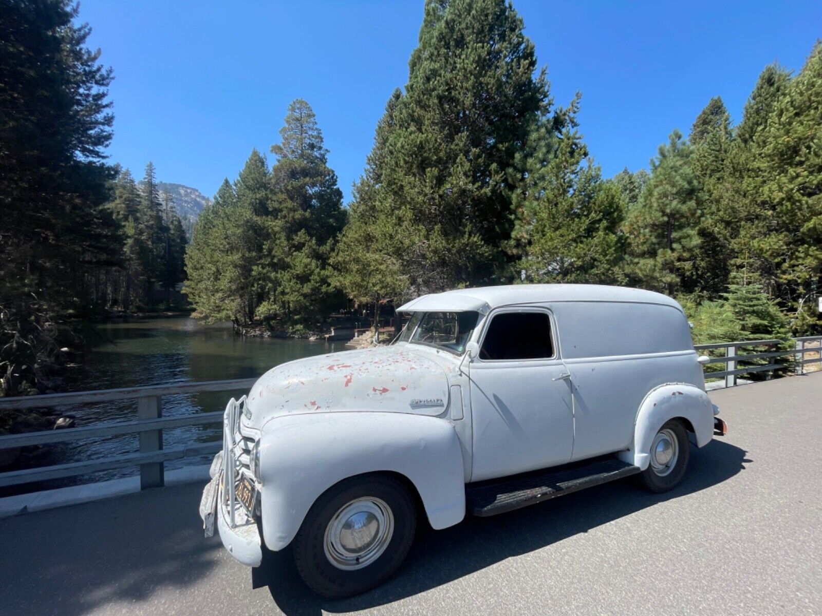
[[[376,347],[289,361],[252,387],[244,423],[260,430],[272,417],[331,411],[440,415],[448,406],[446,371],[455,361],[434,352]]]

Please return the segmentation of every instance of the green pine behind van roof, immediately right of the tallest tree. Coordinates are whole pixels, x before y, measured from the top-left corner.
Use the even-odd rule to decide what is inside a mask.
[[[524,282],[621,282],[621,195],[589,159],[577,131],[579,101],[578,94],[543,118],[526,149],[511,242]]]

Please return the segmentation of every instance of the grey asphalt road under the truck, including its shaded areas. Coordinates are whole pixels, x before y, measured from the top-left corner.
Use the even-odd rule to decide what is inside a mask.
[[[634,478],[446,531],[351,600],[288,552],[252,590],[204,540],[200,485],[0,520],[0,614],[822,614],[822,373],[711,393],[730,434],[686,480]]]

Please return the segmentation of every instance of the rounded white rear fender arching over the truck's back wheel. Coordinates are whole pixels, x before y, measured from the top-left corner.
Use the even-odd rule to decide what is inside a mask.
[[[644,471],[650,462],[653,437],[666,421],[675,417],[690,421],[698,447],[709,444],[713,437],[713,406],[708,394],[694,385],[666,384],[645,396],[636,414],[633,443],[618,457]]]

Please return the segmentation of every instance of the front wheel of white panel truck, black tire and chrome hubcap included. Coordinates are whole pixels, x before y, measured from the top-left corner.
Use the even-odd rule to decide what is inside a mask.
[[[390,577],[408,554],[417,517],[408,490],[389,476],[344,480],[309,510],[293,541],[303,581],[339,599]]]

